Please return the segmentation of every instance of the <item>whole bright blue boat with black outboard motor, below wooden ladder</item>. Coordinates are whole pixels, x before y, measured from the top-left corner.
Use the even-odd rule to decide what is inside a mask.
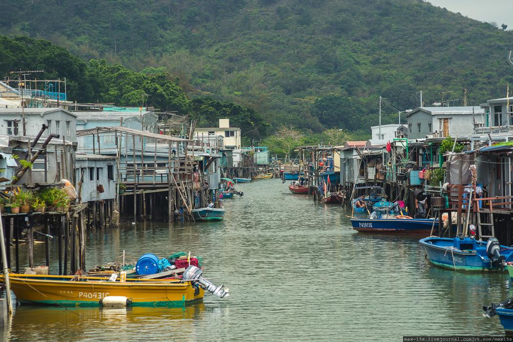
[[[503,271],[509,257],[513,257],[513,249],[500,245],[495,237],[483,242],[470,237],[431,236],[419,243],[431,264],[455,271]]]

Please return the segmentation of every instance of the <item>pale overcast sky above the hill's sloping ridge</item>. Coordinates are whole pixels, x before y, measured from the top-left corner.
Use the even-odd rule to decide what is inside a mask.
[[[432,5],[460,12],[482,22],[506,24],[513,29],[513,0],[428,0]]]

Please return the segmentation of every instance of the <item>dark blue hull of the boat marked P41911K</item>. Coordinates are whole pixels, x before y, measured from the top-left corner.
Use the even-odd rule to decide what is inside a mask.
[[[359,232],[429,235],[433,220],[424,218],[351,218],[351,225],[354,230]],[[435,223],[435,227],[438,227],[438,223]]]

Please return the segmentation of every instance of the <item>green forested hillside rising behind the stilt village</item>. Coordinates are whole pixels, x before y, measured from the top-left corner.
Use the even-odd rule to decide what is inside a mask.
[[[380,95],[383,123],[395,123],[397,110],[419,106],[421,90],[427,106],[440,102],[441,92],[461,105],[464,88],[469,103],[478,104],[504,96],[513,83],[505,63],[513,32],[420,0],[6,0],[5,6],[11,10],[0,17],[3,32],[45,38],[95,59],[85,75],[119,69],[138,83],[143,77],[158,85],[155,104],[203,117],[209,108],[194,104],[196,97],[212,108],[239,105],[269,124],[255,131],[259,136],[280,126],[368,134],[378,123]],[[86,64],[77,68],[80,74]],[[116,88],[129,85],[109,77],[96,78],[103,88],[78,87],[77,98],[126,103],[138,96],[135,90],[121,96]]]

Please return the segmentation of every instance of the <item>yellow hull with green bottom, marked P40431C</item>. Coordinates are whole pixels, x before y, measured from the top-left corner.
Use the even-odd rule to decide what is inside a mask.
[[[179,307],[203,298],[204,290],[191,283],[172,280],[132,280],[121,283],[108,278],[11,274],[11,289],[22,303],[101,306],[107,296],[131,298],[133,306]],[[85,279],[85,281],[83,280]],[[196,293],[195,293],[196,291]]]

